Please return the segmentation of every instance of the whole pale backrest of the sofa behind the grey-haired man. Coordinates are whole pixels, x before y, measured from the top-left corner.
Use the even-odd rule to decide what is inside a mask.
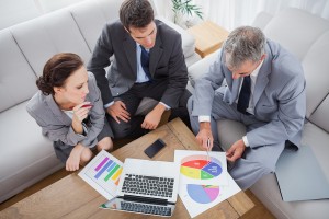
[[[309,122],[329,131],[329,21],[299,9],[286,9],[264,25],[266,37],[279,42],[302,61],[306,78]],[[259,23],[259,22],[256,22]]]

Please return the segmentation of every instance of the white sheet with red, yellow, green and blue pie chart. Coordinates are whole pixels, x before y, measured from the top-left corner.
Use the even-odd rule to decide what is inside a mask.
[[[180,184],[228,185],[225,152],[175,150],[180,164]]]

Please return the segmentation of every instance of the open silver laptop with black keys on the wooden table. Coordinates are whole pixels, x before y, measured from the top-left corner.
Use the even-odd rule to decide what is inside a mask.
[[[126,159],[116,197],[100,208],[171,217],[179,189],[179,163]]]

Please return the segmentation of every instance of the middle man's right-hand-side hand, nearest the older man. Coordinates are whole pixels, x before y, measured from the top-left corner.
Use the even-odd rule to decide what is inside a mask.
[[[158,103],[158,105],[156,105],[156,107],[145,116],[141,128],[156,129],[164,111],[166,106],[161,103]]]

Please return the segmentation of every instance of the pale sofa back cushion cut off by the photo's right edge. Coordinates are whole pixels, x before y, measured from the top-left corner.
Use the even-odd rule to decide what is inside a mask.
[[[324,33],[309,48],[303,68],[306,78],[307,118],[329,131],[329,31]]]

